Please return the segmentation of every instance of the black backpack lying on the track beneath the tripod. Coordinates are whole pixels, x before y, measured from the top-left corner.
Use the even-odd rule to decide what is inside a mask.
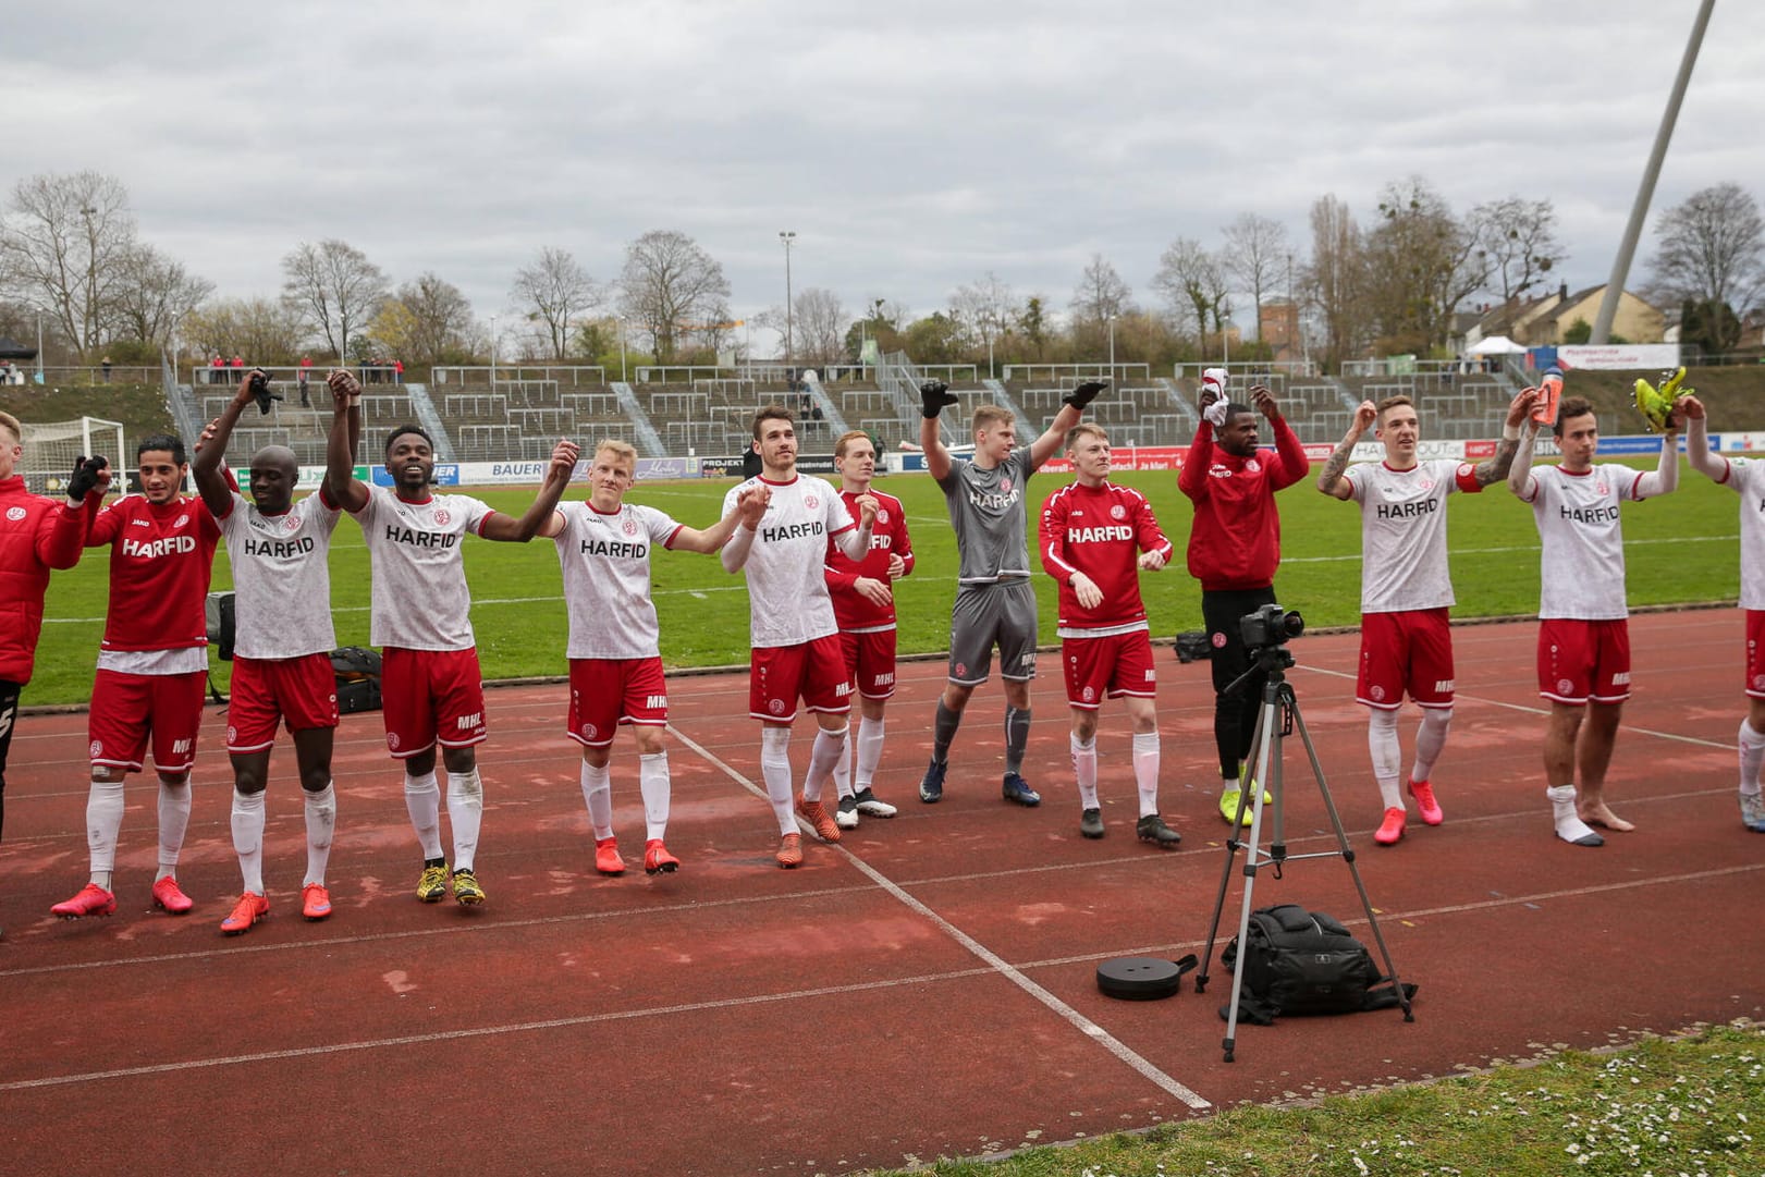
[[[1228,972],[1239,960],[1237,937],[1220,953]],[[1308,912],[1299,903],[1280,903],[1250,912],[1244,985],[1237,1016],[1273,1025],[1276,1015],[1361,1013],[1401,1004],[1389,978],[1373,967],[1373,956],[1334,916]],[[1403,986],[1405,997],[1416,993]],[[1232,1006],[1220,1006],[1230,1020]]]

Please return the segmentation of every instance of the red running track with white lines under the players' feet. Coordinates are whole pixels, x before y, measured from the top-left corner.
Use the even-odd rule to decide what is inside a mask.
[[[339,734],[337,914],[298,918],[304,826],[286,739],[268,798],[272,916],[224,939],[238,891],[229,776],[210,716],[178,870],[185,918],[148,911],[154,789],[131,778],[109,919],[48,916],[86,875],[85,718],[25,716],[0,845],[0,1170],[26,1173],[831,1173],[1135,1129],[1243,1101],[1408,1082],[1758,1018],[1765,838],[1735,806],[1742,711],[1735,611],[1633,619],[1638,695],[1611,771],[1636,821],[1604,849],[1551,836],[1532,690],[1534,626],[1458,630],[1458,711],[1435,782],[1447,822],[1371,845],[1380,810],[1356,639],[1294,642],[1290,681],[1401,976],[1396,1011],[1239,1029],[1221,1061],[1205,995],[1119,1002],[1103,960],[1200,951],[1227,831],[1213,810],[1205,667],[1160,651],[1163,810],[1179,852],[1133,840],[1126,720],[1100,734],[1108,836],[1078,836],[1064,708],[1038,685],[1038,810],[999,798],[999,708],[983,688],[946,798],[920,805],[943,663],[902,667],[877,792],[893,821],[801,870],[771,863],[745,681],[672,683],[676,875],[595,875],[561,736],[561,686],[491,692],[480,911],[411,896],[417,849],[379,716]],[[28,699],[28,695],[26,695]],[[792,745],[807,761],[808,723]],[[1403,722],[1405,752],[1414,709]],[[616,824],[642,847],[635,753],[614,759]],[[1327,849],[1297,743],[1294,852]],[[1236,872],[1225,923],[1236,925]],[[1364,937],[1340,859],[1264,873],[1257,905],[1301,902]],[[1714,933],[1721,928],[1721,933]]]

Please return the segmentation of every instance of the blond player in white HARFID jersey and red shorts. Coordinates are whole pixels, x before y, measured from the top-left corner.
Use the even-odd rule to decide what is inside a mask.
[[[582,801],[595,829],[595,870],[625,873],[612,835],[612,785],[607,766],[612,736],[630,725],[637,738],[637,789],[644,799],[644,873],[680,868],[667,836],[669,771],[667,681],[662,676],[662,630],[650,600],[650,558],[669,551],[715,552],[727,540],[745,505],[704,531],[674,522],[655,506],[625,501],[637,480],[637,450],[602,441],[588,468],[590,494],[560,503],[540,535],[558,545],[563,600],[570,612],[570,739],[582,745]],[[757,494],[754,517],[759,519]]]

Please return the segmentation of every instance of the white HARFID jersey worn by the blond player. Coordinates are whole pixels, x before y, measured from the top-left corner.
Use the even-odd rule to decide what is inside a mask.
[[[657,658],[662,630],[650,600],[650,549],[674,542],[681,524],[653,506],[625,503],[612,514],[591,503],[560,503],[552,536],[570,611],[570,658]]]

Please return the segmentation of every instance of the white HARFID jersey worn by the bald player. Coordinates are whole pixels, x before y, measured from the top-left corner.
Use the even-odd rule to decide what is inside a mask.
[[[265,515],[238,492],[221,519],[233,565],[233,651],[245,658],[330,653],[330,538],[339,510],[309,494],[281,515]]]

